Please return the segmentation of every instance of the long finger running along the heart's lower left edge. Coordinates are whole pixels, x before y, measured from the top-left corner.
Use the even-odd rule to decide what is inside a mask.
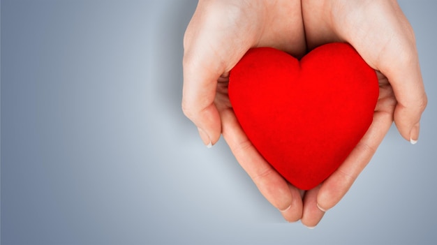
[[[288,221],[297,221],[302,215],[302,200],[299,198],[299,191],[290,188],[286,180],[253,147],[232,110],[223,110],[221,119],[223,138],[228,142],[235,158],[262,195],[274,207],[283,211]]]

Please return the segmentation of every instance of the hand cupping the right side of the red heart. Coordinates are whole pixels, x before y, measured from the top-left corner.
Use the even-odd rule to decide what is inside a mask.
[[[396,1],[302,1],[306,43],[353,45],[377,70],[380,96],[373,123],[346,161],[311,195],[321,210],[346,194],[382,142],[392,122],[412,144],[419,137],[420,117],[427,106],[413,29]],[[320,214],[304,206],[302,223],[314,226]]]

